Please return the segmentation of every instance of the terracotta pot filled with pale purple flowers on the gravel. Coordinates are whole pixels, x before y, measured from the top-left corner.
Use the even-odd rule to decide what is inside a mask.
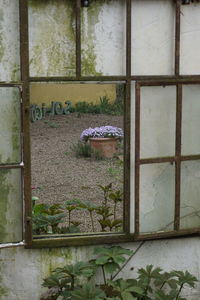
[[[100,151],[102,157],[113,158],[117,152],[117,143],[123,136],[122,128],[101,126],[83,130],[80,139],[82,142],[89,142],[93,149]]]

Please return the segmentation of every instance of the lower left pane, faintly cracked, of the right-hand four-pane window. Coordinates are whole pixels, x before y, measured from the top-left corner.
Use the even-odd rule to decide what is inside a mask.
[[[175,167],[170,163],[142,165],[140,174],[140,232],[172,230]]]

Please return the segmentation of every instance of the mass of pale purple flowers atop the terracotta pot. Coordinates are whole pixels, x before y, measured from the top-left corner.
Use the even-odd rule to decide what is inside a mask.
[[[89,138],[116,137],[123,138],[124,132],[122,128],[114,126],[101,126],[95,128],[87,128],[83,130],[80,136],[82,142],[87,142]]]

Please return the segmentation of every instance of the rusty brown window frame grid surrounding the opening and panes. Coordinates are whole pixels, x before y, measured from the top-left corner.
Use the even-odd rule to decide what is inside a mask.
[[[24,199],[25,199],[25,241],[27,248],[61,247],[75,245],[93,245],[97,243],[116,243],[158,238],[170,238],[186,235],[199,235],[200,229],[180,230],[180,143],[181,143],[181,85],[189,83],[200,84],[200,75],[180,75],[180,21],[182,0],[167,0],[174,2],[175,9],[175,51],[174,74],[170,76],[133,76],[131,75],[131,23],[132,0],[126,2],[126,75],[125,76],[82,76],[81,75],[81,0],[76,0],[76,76],[75,77],[30,77],[29,76],[29,45],[28,45],[28,0],[19,0],[20,3],[20,46],[21,46],[21,82],[22,86],[22,116],[23,116],[23,153],[24,153]],[[30,137],[29,137],[29,85],[32,82],[125,82],[126,97],[124,108],[124,231],[123,233],[108,234],[84,234],[76,236],[49,236],[47,238],[33,239],[31,225],[31,166],[30,166]],[[135,232],[130,232],[130,163],[131,163],[131,84],[136,84],[136,112],[135,112]],[[16,85],[16,83],[14,83]],[[5,85],[5,83],[3,84]],[[13,83],[11,84],[13,86]],[[177,86],[177,111],[176,111],[176,155],[173,161],[176,163],[176,201],[174,230],[165,233],[140,234],[139,232],[139,166],[140,161],[140,87],[145,85],[176,85]],[[197,157],[196,157],[197,158]],[[197,159],[199,159],[198,156]],[[156,158],[157,162],[166,158]],[[171,161],[168,158],[167,161]],[[147,162],[146,162],[147,163]],[[1,166],[0,166],[1,168]]]

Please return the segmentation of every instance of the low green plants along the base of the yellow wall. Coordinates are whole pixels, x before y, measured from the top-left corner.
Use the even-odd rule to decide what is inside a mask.
[[[108,114],[108,115],[122,115],[123,114],[123,100],[110,103],[110,99],[107,96],[102,96],[99,99],[98,104],[93,102],[77,102],[70,108],[70,112],[78,113],[92,113],[92,114]]]

